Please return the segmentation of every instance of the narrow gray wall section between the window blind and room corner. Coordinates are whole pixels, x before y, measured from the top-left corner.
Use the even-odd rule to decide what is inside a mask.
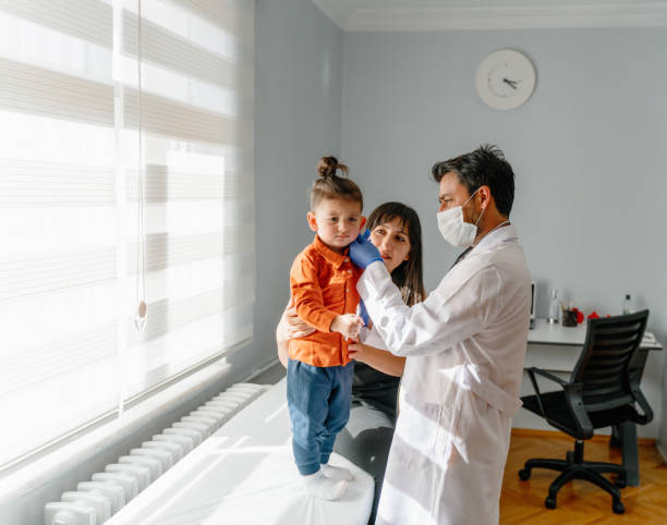
[[[310,0],[258,0],[256,35],[255,330],[233,357],[247,369],[276,358],[289,269],[313,237],[307,190],[319,157],[338,155],[341,137],[341,29]]]

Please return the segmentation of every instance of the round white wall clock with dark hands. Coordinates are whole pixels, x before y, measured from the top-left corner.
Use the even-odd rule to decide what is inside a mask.
[[[535,70],[524,54],[501,49],[482,61],[475,85],[486,105],[500,110],[514,109],[531,97]]]

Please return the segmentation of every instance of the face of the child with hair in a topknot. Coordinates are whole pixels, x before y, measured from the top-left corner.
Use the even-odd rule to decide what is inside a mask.
[[[308,211],[308,225],[319,240],[331,249],[342,252],[364,227],[366,218],[361,206],[343,198],[325,198],[315,211]]]

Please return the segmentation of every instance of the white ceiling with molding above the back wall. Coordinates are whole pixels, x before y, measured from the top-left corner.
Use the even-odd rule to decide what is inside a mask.
[[[667,0],[313,0],[344,30],[667,26]]]

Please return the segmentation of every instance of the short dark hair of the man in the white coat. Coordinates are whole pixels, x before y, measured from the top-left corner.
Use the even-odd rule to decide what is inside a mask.
[[[470,195],[488,186],[498,211],[509,217],[514,202],[514,172],[498,146],[484,144],[469,154],[436,162],[430,170],[436,182],[449,172],[458,175]]]

